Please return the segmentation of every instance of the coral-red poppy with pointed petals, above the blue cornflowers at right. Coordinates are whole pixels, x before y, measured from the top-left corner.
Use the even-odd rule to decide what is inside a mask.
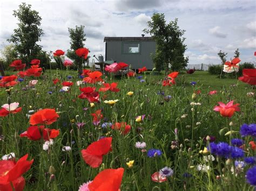
[[[235,111],[240,111],[238,107],[239,103],[233,105],[233,102],[234,101],[230,101],[227,104],[218,102],[219,106],[215,106],[213,110],[220,112],[220,115],[223,117],[232,117]]]

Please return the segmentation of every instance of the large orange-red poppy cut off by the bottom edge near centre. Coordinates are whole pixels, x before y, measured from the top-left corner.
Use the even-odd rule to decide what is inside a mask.
[[[90,191],[117,191],[120,190],[124,168],[105,169],[100,172],[88,185]]]

